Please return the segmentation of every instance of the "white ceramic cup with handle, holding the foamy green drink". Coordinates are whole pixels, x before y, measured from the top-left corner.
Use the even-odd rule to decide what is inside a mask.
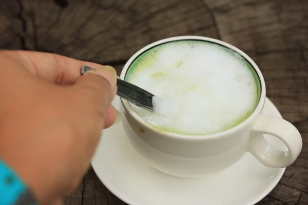
[[[127,100],[121,98],[123,127],[128,141],[152,167],[180,177],[202,177],[217,173],[240,160],[246,152],[252,153],[263,165],[273,168],[290,166],[302,149],[298,130],[288,121],[261,114],[266,93],[262,73],[255,62],[238,48],[217,39],[202,36],[177,36],[159,40],[134,54],[124,66],[125,78],[133,60],[160,44],[176,40],[204,40],[232,49],[252,65],[260,79],[261,93],[254,112],[241,124],[223,132],[209,135],[185,135],[162,131],[143,120],[133,111]],[[223,60],[223,59],[222,59]],[[287,151],[277,150],[267,143],[262,134],[270,134],[284,142]]]

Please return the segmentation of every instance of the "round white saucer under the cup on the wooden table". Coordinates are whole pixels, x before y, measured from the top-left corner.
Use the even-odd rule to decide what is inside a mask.
[[[119,109],[119,97],[112,105]],[[266,99],[264,115],[281,117]],[[276,148],[281,141],[265,136]],[[149,165],[126,139],[122,123],[104,130],[92,167],[115,196],[130,205],[252,205],[271,192],[285,168],[263,166],[247,153],[234,166],[207,178],[180,178],[164,174]]]

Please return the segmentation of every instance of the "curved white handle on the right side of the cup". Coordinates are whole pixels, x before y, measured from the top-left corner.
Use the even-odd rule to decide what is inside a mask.
[[[282,151],[272,147],[262,134],[278,137],[288,150]],[[260,114],[251,131],[248,152],[267,167],[283,168],[292,165],[296,160],[302,144],[299,131],[290,122]]]

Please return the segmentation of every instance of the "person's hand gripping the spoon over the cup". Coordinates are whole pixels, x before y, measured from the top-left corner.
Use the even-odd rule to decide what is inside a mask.
[[[115,70],[32,51],[1,51],[0,60],[0,158],[40,204],[61,201],[115,120]],[[82,65],[102,69],[80,76]]]

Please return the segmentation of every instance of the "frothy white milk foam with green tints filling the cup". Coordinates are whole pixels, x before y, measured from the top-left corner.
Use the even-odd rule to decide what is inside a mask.
[[[148,90],[155,113],[131,104],[151,125],[182,134],[232,128],[254,110],[257,83],[245,61],[223,47],[172,42],[144,53],[128,81]]]

